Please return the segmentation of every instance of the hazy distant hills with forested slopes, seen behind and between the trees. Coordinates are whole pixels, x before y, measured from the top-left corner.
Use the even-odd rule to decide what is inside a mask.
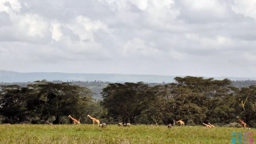
[[[41,74],[41,75],[40,75]],[[70,77],[76,77],[70,79]],[[0,85],[20,85],[26,87],[27,84],[34,83],[33,81],[46,79],[53,83],[71,82],[75,85],[87,87],[95,92],[93,98],[102,100],[101,90],[112,82],[139,82],[143,81],[150,86],[164,85],[173,82],[176,76],[157,76],[157,75],[125,75],[125,74],[76,74],[76,73],[17,73],[11,71],[0,70]],[[209,78],[209,77],[205,77]],[[238,88],[256,85],[255,78],[232,78],[232,77],[214,77],[222,80],[228,78],[232,80],[232,85]],[[248,80],[252,79],[252,80]],[[30,82],[29,82],[30,81]],[[164,83],[163,83],[164,81]]]

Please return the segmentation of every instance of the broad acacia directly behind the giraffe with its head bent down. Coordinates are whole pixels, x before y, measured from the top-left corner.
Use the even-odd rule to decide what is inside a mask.
[[[187,122],[197,122],[202,117],[200,108],[191,103],[198,94],[191,89],[183,88],[175,83],[155,86],[148,95],[147,105],[158,112],[158,116],[165,125],[182,119]]]

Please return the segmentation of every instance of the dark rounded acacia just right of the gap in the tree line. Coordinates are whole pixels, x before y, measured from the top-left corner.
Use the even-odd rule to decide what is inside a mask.
[[[102,105],[110,115],[122,117],[123,123],[134,123],[136,116],[142,111],[142,101],[146,97],[149,85],[143,82],[125,82],[108,84],[102,89]]]

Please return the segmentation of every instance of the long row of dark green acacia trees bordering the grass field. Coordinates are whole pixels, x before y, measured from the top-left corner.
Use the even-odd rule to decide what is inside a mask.
[[[175,77],[174,83],[149,85],[144,82],[109,83],[102,89],[103,100],[92,98],[87,87],[70,82],[36,81],[26,87],[1,85],[3,123],[71,123],[68,115],[91,123],[86,115],[116,124],[211,124],[223,126],[239,116],[249,127],[256,125],[256,87],[237,88],[229,79]]]

